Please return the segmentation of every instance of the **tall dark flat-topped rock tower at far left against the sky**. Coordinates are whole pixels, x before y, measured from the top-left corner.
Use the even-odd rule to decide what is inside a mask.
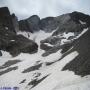
[[[15,32],[12,17],[7,7],[0,8],[0,25],[3,29],[8,29]]]

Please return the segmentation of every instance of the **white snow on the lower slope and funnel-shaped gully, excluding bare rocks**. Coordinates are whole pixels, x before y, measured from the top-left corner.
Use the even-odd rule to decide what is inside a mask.
[[[79,35],[79,37],[84,34],[87,31],[87,29],[84,29],[84,31]],[[19,32],[18,34],[23,34],[25,37],[28,37],[28,34],[26,32]],[[52,33],[45,33],[43,31],[30,34],[30,39],[34,40],[35,42],[40,45],[40,40],[43,40],[47,37],[52,35]],[[68,34],[73,35],[73,33]],[[78,38],[79,38],[78,37]],[[79,55],[77,51],[74,51],[67,56],[65,56],[62,60],[58,61],[62,54],[60,53],[61,50],[59,50],[56,53],[50,54],[47,57],[42,57],[42,53],[44,53],[43,50],[39,48],[38,52],[35,54],[26,54],[21,53],[17,57],[12,57],[8,52],[2,51],[3,56],[0,57],[0,66],[5,64],[5,62],[9,60],[20,60],[21,62],[18,62],[16,64],[13,64],[9,67],[18,67],[16,70],[12,70],[6,74],[3,74],[0,76],[0,87],[19,87],[20,90],[90,90],[90,76],[80,77],[78,75],[75,75],[74,72],[71,71],[61,71],[62,68],[72,61],[75,57]],[[51,65],[46,65],[47,62],[55,62]],[[42,64],[39,70],[34,70],[32,72],[22,73],[25,69],[30,68],[32,66]],[[0,69],[1,71],[4,71],[7,68]],[[28,86],[28,83],[32,80],[34,80],[37,76],[37,74],[40,73],[41,75],[38,76],[38,79],[41,79],[45,76],[47,76],[42,82],[40,82],[37,86],[30,89],[31,86]],[[24,83],[20,84],[21,81],[25,80]]]

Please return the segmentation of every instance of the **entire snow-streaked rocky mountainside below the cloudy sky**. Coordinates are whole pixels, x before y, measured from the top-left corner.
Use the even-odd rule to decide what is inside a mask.
[[[0,86],[90,89],[89,15],[75,11],[18,21],[7,7],[0,8],[0,13]]]

